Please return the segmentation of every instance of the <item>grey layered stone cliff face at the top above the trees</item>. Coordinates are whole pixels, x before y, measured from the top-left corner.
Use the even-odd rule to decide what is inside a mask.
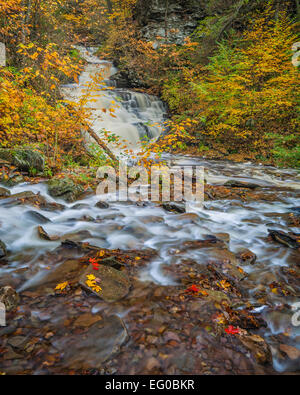
[[[146,39],[181,44],[206,16],[205,0],[138,0],[135,18]]]

